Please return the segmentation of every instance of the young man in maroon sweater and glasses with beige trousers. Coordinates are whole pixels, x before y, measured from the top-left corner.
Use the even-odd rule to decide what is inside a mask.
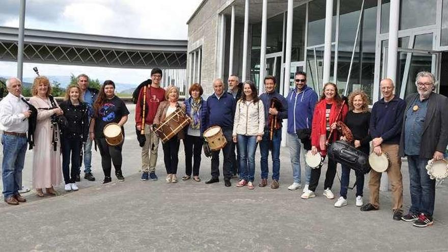
[[[160,102],[165,100],[165,90],[160,88],[160,80],[162,79],[162,70],[153,68],[151,70],[151,84],[146,88],[146,111],[145,122],[142,122],[142,107],[138,104],[143,104],[143,93],[145,89],[140,89],[138,94],[137,106],[135,106],[135,123],[137,130],[145,129],[145,145],[142,147],[142,178],[146,181],[148,177],[151,180],[157,180],[155,174],[157,163],[157,150],[159,148],[159,137],[151,128],[153,127],[154,117],[157,113],[157,108]]]

